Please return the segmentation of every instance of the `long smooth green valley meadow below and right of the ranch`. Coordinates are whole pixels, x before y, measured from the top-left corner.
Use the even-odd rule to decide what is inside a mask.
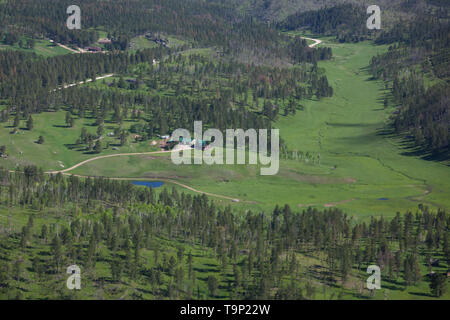
[[[393,107],[383,108],[387,92],[370,79],[365,67],[386,48],[323,40],[335,55],[320,63],[334,96],[303,101],[303,111],[276,123],[290,149],[319,153],[320,166],[282,161],[278,175],[263,177],[252,166],[176,167],[168,157],[124,157],[91,162],[75,173],[173,177],[200,190],[242,199],[243,208],[264,210],[276,203],[295,208],[337,206],[367,218],[414,210],[419,203],[449,208],[448,166],[406,155],[402,141],[385,134]]]

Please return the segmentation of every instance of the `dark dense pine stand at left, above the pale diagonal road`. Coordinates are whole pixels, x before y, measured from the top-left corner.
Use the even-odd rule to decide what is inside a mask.
[[[0,98],[9,110],[36,113],[48,110],[56,89],[108,73],[125,72],[130,65],[152,63],[170,49],[155,48],[135,54],[107,53],[62,55],[47,59],[34,54],[0,51]]]

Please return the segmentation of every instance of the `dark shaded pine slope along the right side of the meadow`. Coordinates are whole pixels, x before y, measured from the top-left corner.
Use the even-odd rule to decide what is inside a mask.
[[[376,40],[398,43],[371,61],[373,76],[388,83],[398,105],[392,117],[395,132],[406,133],[422,152],[439,159],[450,154],[449,28],[448,20],[424,15],[401,22]],[[426,87],[424,75],[436,83]]]

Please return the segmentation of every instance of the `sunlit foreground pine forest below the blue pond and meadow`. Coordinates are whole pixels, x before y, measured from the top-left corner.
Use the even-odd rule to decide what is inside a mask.
[[[133,281],[134,299],[144,293],[156,299],[313,299],[317,281],[334,296],[332,287],[348,286],[371,264],[380,266],[384,281],[405,287],[424,281],[426,266],[433,295],[446,288],[445,276],[431,271],[450,263],[450,216],[422,205],[415,214],[361,223],[335,208],[233,212],[205,195],[164,189],[156,196],[130,182],[48,176],[36,167],[1,169],[0,185],[0,204],[35,212],[27,223],[2,224],[5,298],[73,298],[65,281],[52,281],[71,264],[84,270],[85,284],[92,281],[112,296]],[[62,212],[68,222],[45,222]],[[203,253],[193,255],[194,247]],[[299,260],[304,254],[320,259],[320,269],[308,271]],[[208,277],[198,268],[205,257],[215,261]],[[100,264],[107,266],[101,277],[95,272]],[[31,279],[39,285],[22,291]],[[351,287],[355,296],[370,295],[364,283]]]

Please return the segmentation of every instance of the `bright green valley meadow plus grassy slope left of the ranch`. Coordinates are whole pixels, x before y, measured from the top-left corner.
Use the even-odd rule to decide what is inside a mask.
[[[384,108],[388,91],[381,82],[372,80],[366,69],[371,57],[387,48],[369,42],[322,40],[321,45],[332,47],[334,53],[332,60],[319,63],[334,88],[333,97],[302,101],[303,110],[287,117],[280,115],[275,123],[290,150],[320,154],[320,164],[281,159],[277,175],[261,176],[260,168],[252,165],[175,166],[166,154],[99,159],[71,173],[171,179],[203,192],[239,199],[233,206],[242,210],[270,212],[276,204],[286,203],[295,209],[338,207],[355,218],[367,219],[415,210],[419,203],[449,208],[448,165],[407,155],[407,144],[387,130],[394,106]],[[101,81],[89,85],[106,88]],[[95,119],[76,119],[73,128],[66,128],[64,117],[63,111],[34,115],[35,128],[16,134],[11,134],[12,119],[3,124],[0,141],[7,146],[9,157],[0,163],[9,168],[33,163],[44,170],[62,170],[98,156],[74,145],[83,126],[95,133]],[[124,121],[123,127],[131,124]],[[116,126],[105,123],[102,143],[110,147],[101,155],[158,150],[149,141],[134,142],[132,138],[119,147],[117,138],[107,136]],[[20,127],[25,127],[24,120]],[[35,143],[40,135],[45,138],[42,145]]]

